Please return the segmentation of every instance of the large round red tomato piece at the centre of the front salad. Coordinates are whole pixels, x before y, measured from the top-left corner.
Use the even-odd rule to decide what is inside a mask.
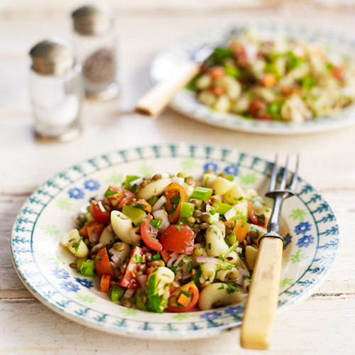
[[[160,244],[168,251],[192,255],[194,252],[194,232],[186,224],[174,224],[160,236]]]

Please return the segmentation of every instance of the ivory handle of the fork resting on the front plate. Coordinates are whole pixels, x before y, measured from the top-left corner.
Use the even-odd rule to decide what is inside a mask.
[[[268,349],[271,343],[282,255],[281,239],[261,239],[241,324],[241,346],[246,349]]]

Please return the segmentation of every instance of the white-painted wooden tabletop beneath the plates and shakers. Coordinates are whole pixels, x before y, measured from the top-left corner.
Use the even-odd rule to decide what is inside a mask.
[[[257,354],[239,346],[239,329],[195,342],[126,339],[82,327],[48,310],[21,283],[13,269],[11,226],[28,195],[60,170],[109,151],[151,143],[186,141],[236,147],[264,158],[299,151],[300,174],[317,187],[334,209],[342,246],[326,280],[313,295],[276,317],[267,354],[354,354],[355,330],[355,126],[308,136],[258,136],[203,126],[168,109],[156,120],[129,114],[149,87],[148,66],[164,45],[192,31],[235,23],[240,18],[265,20],[250,11],[126,11],[121,28],[119,101],[85,102],[84,133],[76,141],[34,141],[28,103],[28,50],[52,34],[69,33],[65,16],[38,13],[18,17],[11,11],[0,21],[0,353],[1,354]],[[267,11],[268,20],[354,28],[354,16]],[[113,349],[115,349],[113,351]]]

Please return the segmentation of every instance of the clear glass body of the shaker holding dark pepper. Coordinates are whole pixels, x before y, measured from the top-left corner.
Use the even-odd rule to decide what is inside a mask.
[[[114,26],[101,34],[75,33],[85,94],[88,98],[110,99],[119,94],[116,75],[117,41],[118,35]]]

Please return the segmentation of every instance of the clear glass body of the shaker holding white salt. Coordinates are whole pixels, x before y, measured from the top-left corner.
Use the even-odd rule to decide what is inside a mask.
[[[65,140],[77,135],[83,99],[79,64],[62,75],[31,69],[30,92],[37,136]]]

